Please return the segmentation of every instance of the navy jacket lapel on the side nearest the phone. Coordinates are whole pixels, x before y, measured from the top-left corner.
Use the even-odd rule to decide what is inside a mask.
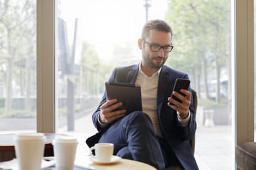
[[[157,114],[160,115],[161,108],[163,106],[163,103],[167,103],[167,101],[164,101],[164,96],[166,92],[166,88],[168,87],[168,77],[169,74],[166,70],[166,67],[162,67],[161,72],[159,74],[159,84],[158,84],[158,90],[157,90]],[[160,118],[160,117],[159,117]]]

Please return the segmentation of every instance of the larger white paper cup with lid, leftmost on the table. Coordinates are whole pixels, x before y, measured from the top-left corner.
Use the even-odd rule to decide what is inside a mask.
[[[46,136],[43,133],[19,133],[14,137],[19,170],[40,170]]]

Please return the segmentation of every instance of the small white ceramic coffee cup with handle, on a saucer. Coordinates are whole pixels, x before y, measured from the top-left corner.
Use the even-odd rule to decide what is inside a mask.
[[[95,155],[92,150],[95,149]],[[114,144],[112,143],[97,143],[90,148],[90,155],[100,162],[110,162],[114,152]]]

